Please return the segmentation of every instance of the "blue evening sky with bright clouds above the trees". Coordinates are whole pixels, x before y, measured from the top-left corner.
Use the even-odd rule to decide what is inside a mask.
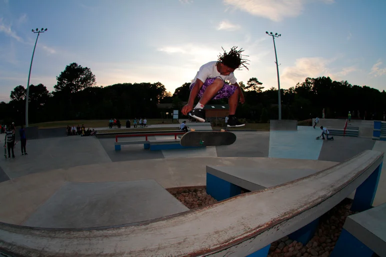
[[[244,50],[265,89],[330,76],[386,90],[386,0],[0,0],[0,101],[30,84],[49,91],[72,62],[97,86],[160,82],[171,93],[221,47]]]

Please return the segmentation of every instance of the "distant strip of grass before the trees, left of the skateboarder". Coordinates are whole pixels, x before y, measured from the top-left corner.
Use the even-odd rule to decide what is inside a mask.
[[[119,119],[122,127],[125,127],[126,120]],[[172,124],[171,119],[148,119],[147,125],[155,125],[155,124]],[[131,126],[133,125],[133,120],[130,119]],[[84,124],[86,128],[100,128],[100,127],[108,127],[108,120],[64,120],[64,121],[51,121],[51,122],[42,122],[30,124],[30,127],[38,127],[38,128],[65,128],[67,125],[69,126],[77,126],[78,124],[81,126]],[[174,120],[174,124],[178,124],[176,120]]]

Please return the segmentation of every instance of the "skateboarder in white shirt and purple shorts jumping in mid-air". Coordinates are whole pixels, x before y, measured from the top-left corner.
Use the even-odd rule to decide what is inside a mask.
[[[248,63],[241,58],[241,52],[243,50],[236,50],[236,48],[236,46],[233,46],[228,53],[224,51],[224,53],[218,57],[217,61],[210,61],[199,68],[189,87],[189,100],[181,110],[183,115],[189,114],[196,120],[205,122],[203,111],[205,104],[210,99],[228,98],[229,120],[227,126],[240,127],[245,125],[239,122],[234,116],[237,103],[238,101],[240,101],[241,104],[244,103],[244,96],[234,77],[233,71],[241,66],[248,69],[245,66],[245,64]],[[230,84],[225,83],[225,80],[230,81]],[[196,96],[200,99],[193,108],[194,98]]]

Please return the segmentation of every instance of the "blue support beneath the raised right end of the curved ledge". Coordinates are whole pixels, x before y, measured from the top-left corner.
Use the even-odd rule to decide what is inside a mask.
[[[382,163],[379,164],[374,172],[356,189],[351,211],[362,212],[372,208],[381,170]]]

